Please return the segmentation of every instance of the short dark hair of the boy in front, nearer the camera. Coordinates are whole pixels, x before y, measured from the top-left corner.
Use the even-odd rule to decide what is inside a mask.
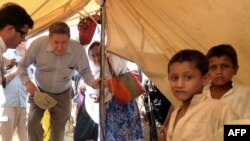
[[[184,49],[177,52],[168,63],[168,73],[170,67],[176,62],[193,62],[196,67],[200,70],[202,76],[208,72],[208,60],[206,56],[198,50]]]

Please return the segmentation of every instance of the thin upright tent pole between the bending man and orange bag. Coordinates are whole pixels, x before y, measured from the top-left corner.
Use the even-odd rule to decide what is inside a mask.
[[[104,107],[104,78],[105,78],[105,26],[106,26],[106,8],[105,8],[105,0],[101,5],[101,71],[100,77],[102,78],[100,85],[100,141],[105,141],[104,137],[104,118],[105,118],[105,107]]]

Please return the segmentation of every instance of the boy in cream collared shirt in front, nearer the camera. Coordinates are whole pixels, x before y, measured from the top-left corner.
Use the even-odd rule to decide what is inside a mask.
[[[227,104],[201,94],[207,84],[208,60],[197,50],[182,50],[168,64],[172,93],[182,102],[171,114],[167,141],[206,141],[237,119]]]

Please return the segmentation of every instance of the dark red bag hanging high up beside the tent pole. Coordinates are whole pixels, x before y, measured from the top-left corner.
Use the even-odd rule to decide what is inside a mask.
[[[94,21],[94,19],[96,21]],[[79,30],[79,40],[82,45],[87,45],[91,42],[95,33],[97,20],[100,20],[100,17],[98,15],[80,19],[77,27]]]

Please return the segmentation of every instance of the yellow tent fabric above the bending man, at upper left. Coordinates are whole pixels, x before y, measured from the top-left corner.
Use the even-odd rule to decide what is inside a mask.
[[[31,15],[35,24],[28,36],[32,37],[48,29],[51,23],[75,15],[84,9],[90,0],[1,0],[0,6],[7,2],[21,5]]]

